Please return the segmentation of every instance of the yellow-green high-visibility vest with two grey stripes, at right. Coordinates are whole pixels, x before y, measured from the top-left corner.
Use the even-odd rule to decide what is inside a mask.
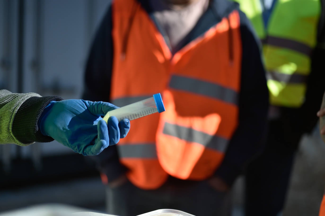
[[[277,0],[265,26],[260,0],[235,0],[263,43],[270,103],[298,108],[304,103],[311,54],[317,43],[319,0]]]

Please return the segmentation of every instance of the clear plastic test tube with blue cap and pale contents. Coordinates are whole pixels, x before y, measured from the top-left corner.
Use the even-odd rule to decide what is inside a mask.
[[[103,120],[108,121],[110,116],[115,116],[118,121],[123,119],[134,120],[143,116],[150,115],[156,112],[165,111],[160,93],[153,95],[150,98],[126,105],[121,108],[113,109],[106,113]]]

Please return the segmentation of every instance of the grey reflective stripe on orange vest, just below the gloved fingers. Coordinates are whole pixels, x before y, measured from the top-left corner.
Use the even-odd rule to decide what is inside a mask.
[[[117,145],[120,158],[157,159],[156,145],[154,143]]]

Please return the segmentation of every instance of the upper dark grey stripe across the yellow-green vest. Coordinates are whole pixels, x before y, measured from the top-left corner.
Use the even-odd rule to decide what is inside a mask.
[[[267,36],[265,39],[261,39],[262,44],[268,44],[272,46],[279,46],[282,48],[287,48],[294,50],[296,52],[305,54],[306,56],[311,56],[312,48],[307,44],[303,44],[298,41],[293,41],[290,39]]]

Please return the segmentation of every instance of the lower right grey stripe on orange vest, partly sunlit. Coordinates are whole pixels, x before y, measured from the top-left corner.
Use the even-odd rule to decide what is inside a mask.
[[[168,122],[165,122],[162,133],[175,136],[189,142],[199,143],[207,148],[220,152],[225,152],[228,144],[228,140],[226,138],[215,135],[213,136],[192,128],[187,128]]]

